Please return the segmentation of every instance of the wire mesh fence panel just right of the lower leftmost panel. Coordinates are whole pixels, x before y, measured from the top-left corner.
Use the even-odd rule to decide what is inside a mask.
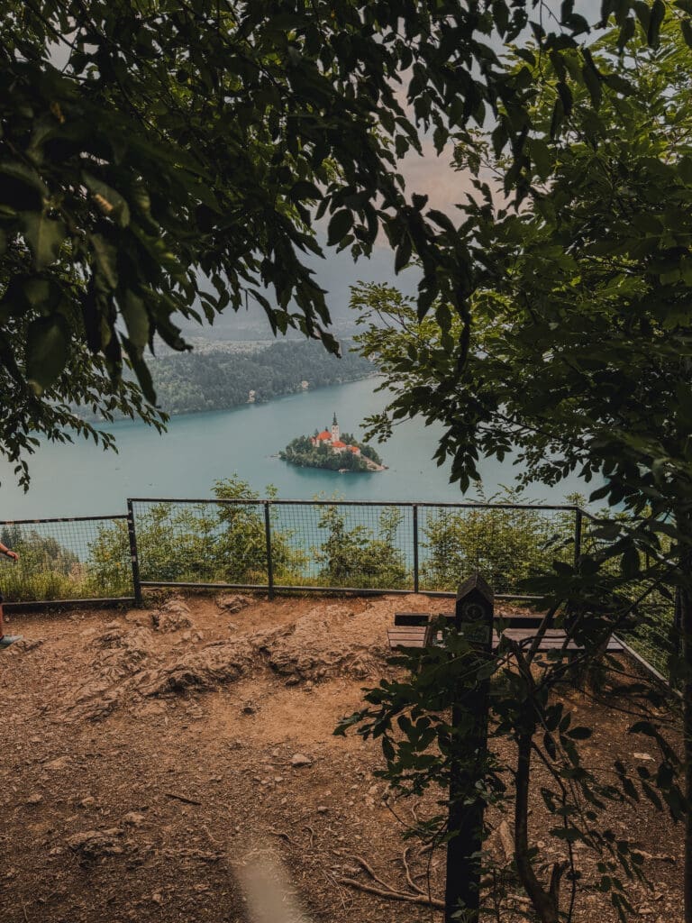
[[[131,502],[143,584],[268,584],[263,501]]]

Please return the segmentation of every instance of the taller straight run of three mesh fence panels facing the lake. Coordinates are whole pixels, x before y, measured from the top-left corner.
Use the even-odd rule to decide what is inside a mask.
[[[347,500],[128,501],[142,586],[454,593],[480,571],[498,596],[579,551],[576,507]]]

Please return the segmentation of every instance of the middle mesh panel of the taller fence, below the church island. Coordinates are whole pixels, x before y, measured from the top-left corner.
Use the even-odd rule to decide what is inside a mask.
[[[270,518],[278,585],[413,589],[411,506],[277,501]]]

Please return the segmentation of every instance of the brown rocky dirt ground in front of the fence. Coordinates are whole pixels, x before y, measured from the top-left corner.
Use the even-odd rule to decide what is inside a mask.
[[[439,898],[444,856],[404,855],[412,806],[389,804],[373,777],[377,743],[332,731],[391,670],[395,610],[445,605],[220,601],[11,618],[26,641],[0,653],[2,923],[441,920],[361,890],[422,900],[429,869]],[[577,694],[570,704],[596,727],[594,765],[649,761],[626,715]],[[553,860],[540,813],[532,833]],[[680,831],[648,804],[612,822],[650,855],[653,889],[631,890],[636,918],[677,923]],[[609,923],[595,863],[579,853],[589,887],[575,919]]]

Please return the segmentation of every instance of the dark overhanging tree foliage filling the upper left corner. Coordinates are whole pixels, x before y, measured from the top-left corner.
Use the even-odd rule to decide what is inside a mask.
[[[295,328],[336,351],[304,259],[323,253],[323,216],[328,246],[354,257],[384,231],[396,270],[422,262],[421,312],[442,295],[468,327],[468,249],[424,195],[405,197],[398,168],[424,135],[439,153],[450,131],[483,125],[502,100],[507,188],[526,185],[535,75],[504,69],[488,39],[495,30],[516,41],[533,6],[10,0],[0,452],[24,483],[37,435],[113,444],[71,413],[74,402],[161,425],[147,354],[158,337],[185,349],[183,318],[211,322],[253,299],[275,334]],[[602,17],[630,6],[603,3]],[[539,7],[531,28],[559,60],[589,23],[563,4],[546,30]],[[137,387],[123,384],[127,367]]]

